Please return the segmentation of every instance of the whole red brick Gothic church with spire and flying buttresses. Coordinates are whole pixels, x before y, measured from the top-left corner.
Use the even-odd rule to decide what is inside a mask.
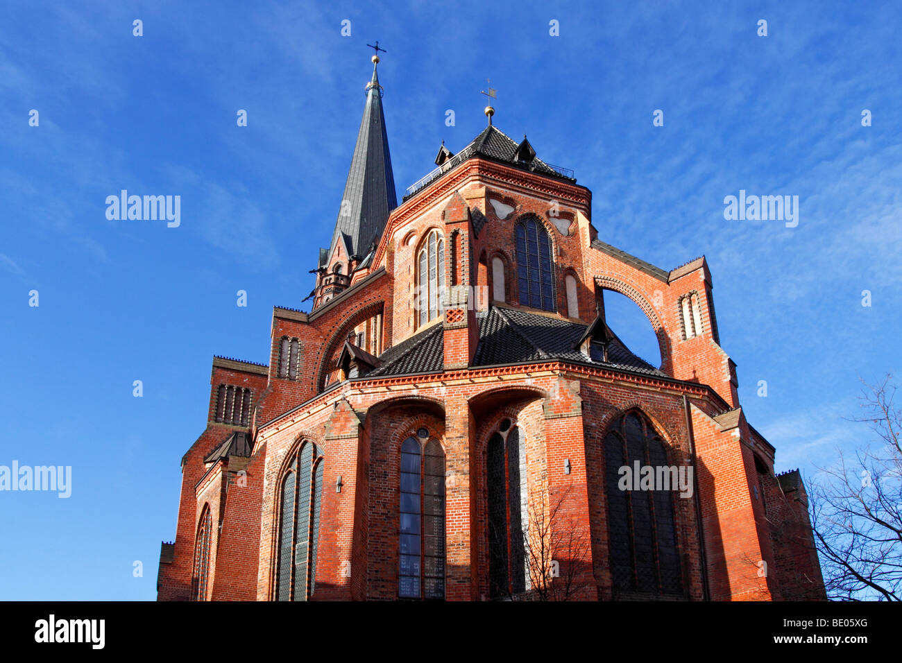
[[[159,600],[824,599],[704,257],[605,244],[592,192],[491,106],[398,205],[373,63],[311,310],[273,308],[268,364],[213,359]]]

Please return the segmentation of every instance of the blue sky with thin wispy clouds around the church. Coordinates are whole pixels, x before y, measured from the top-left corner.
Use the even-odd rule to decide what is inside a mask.
[[[0,493],[0,599],[155,597],[211,357],[266,361],[272,306],[311,290],[376,39],[399,199],[440,141],[483,128],[491,78],[495,124],[575,170],[603,241],[664,269],[707,256],[778,471],[811,476],[866,440],[842,417],[859,377],[900,360],[902,14],[785,5],[7,3],[0,465],[71,465],[72,495]],[[181,225],[107,220],[120,189],[179,195]],[[724,220],[740,189],[797,195],[798,226]],[[638,308],[612,298],[608,317],[657,359]]]

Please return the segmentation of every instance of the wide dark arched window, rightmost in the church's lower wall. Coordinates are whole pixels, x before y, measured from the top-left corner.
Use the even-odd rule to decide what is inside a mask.
[[[616,419],[604,438],[608,498],[608,539],[614,592],[655,595],[683,594],[680,557],[676,547],[674,491],[636,490],[634,474],[650,465],[668,467],[667,450],[650,422],[637,412]],[[663,475],[663,473],[661,474]],[[621,483],[622,477],[633,481]],[[627,490],[621,490],[623,485]]]

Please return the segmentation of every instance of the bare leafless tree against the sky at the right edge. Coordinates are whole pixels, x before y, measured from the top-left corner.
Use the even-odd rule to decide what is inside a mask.
[[[827,595],[841,601],[902,600],[902,412],[897,385],[887,375],[864,385],[864,415],[879,437],[854,460],[842,453],[811,494],[812,526]]]

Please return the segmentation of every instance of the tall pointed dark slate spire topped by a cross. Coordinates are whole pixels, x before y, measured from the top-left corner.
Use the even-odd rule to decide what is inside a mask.
[[[378,66],[378,58],[373,57],[373,79],[366,86],[364,119],[357,133],[329,255],[339,241],[344,241],[348,255],[363,256],[373,239],[382,235],[389,212],[398,206],[382,114],[382,86],[376,74]]]

